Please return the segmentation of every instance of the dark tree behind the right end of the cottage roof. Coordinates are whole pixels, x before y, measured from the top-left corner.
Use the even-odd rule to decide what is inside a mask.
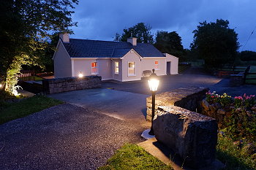
[[[154,44],[162,53],[169,53],[179,58],[184,55],[184,48],[181,44],[181,36],[176,31],[157,31],[156,43]]]

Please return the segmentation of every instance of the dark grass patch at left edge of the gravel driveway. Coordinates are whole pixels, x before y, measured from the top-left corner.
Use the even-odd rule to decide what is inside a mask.
[[[62,101],[41,95],[24,98],[17,103],[2,102],[0,104],[0,124],[31,115],[34,112],[39,112],[42,109],[62,103]]]

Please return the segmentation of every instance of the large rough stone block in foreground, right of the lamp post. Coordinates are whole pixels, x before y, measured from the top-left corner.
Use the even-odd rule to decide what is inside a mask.
[[[154,117],[156,139],[170,147],[192,168],[215,159],[217,122],[211,117],[181,107],[159,107]]]

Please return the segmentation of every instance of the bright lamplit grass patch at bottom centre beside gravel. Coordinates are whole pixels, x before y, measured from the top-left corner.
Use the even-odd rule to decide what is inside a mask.
[[[107,165],[99,167],[98,170],[108,169],[173,169],[159,159],[154,158],[142,147],[136,144],[124,144],[110,158]]]

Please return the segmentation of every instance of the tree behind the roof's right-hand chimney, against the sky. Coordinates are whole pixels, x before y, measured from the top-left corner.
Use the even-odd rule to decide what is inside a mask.
[[[145,23],[138,23],[131,28],[124,29],[123,34],[116,33],[114,41],[127,42],[127,38],[133,36],[138,42],[153,44],[153,35],[151,34],[151,26],[146,26]]]

